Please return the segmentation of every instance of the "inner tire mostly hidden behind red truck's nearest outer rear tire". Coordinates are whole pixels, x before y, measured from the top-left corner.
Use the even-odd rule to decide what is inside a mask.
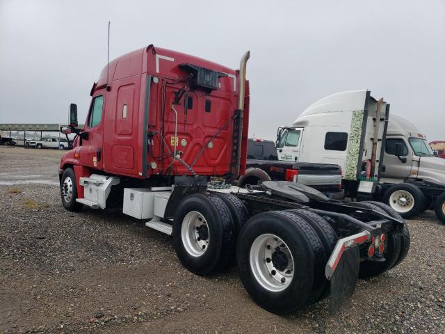
[[[332,226],[327,223],[322,216],[319,216],[315,212],[305,209],[290,209],[289,212],[292,212],[293,214],[305,219],[305,221],[312,226],[315,232],[317,232],[325,253],[323,263],[326,263],[332,254],[332,250],[334,250],[335,244],[337,244],[337,240],[339,239],[334,228],[332,228]],[[324,275],[321,277],[323,277],[324,280],[323,287],[321,287],[320,291],[312,291],[312,298],[309,300],[308,304],[319,301],[330,294],[330,284],[327,282]]]

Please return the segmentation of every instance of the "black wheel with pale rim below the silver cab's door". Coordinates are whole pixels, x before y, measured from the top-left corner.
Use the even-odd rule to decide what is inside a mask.
[[[385,191],[383,202],[396,210],[403,218],[411,218],[421,213],[425,198],[414,184],[401,183],[394,184]]]

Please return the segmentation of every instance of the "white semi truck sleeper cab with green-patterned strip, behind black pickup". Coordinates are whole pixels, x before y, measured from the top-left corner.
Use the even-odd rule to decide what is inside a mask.
[[[278,129],[278,159],[337,164],[346,180],[377,177],[388,114],[389,104],[375,100],[369,90],[324,97],[303,111],[291,127]],[[371,161],[373,147],[378,154]]]

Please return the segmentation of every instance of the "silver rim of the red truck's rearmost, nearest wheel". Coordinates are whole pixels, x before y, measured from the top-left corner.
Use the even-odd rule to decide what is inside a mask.
[[[280,292],[293,279],[291,250],[275,234],[261,234],[250,247],[250,269],[257,282],[270,292]]]

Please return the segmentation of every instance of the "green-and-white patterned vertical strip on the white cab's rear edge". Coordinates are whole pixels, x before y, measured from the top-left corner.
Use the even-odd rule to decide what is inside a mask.
[[[357,160],[359,159],[360,139],[362,138],[364,111],[353,111],[350,122],[348,152],[346,153],[345,180],[357,180]]]

